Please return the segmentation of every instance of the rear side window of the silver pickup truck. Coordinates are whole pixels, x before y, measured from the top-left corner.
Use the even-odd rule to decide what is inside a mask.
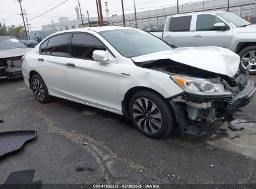
[[[170,32],[183,32],[190,30],[192,16],[181,16],[171,18],[169,31]]]

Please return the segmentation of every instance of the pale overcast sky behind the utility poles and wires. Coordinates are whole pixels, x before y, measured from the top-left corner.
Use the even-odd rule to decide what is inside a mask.
[[[64,2],[67,1],[67,2]],[[121,0],[102,0],[103,16],[106,16],[105,1],[108,2],[109,16],[121,14]],[[179,0],[179,4],[198,2],[202,0]],[[64,2],[63,4],[61,4]],[[78,7],[78,0],[22,0],[22,9],[25,9],[27,21],[31,24],[32,30],[42,29],[42,25],[59,22],[59,17],[76,19],[75,7]],[[61,4],[52,11],[53,7]],[[123,0],[125,14],[134,12],[134,0]],[[80,0],[82,14],[87,17],[97,17],[96,0]],[[148,11],[176,5],[176,0],[136,0],[136,11]],[[23,25],[21,7],[19,2],[14,0],[0,0],[0,22],[6,25]],[[49,11],[42,16],[40,14]],[[39,17],[37,17],[39,16]],[[34,17],[37,17],[34,19]],[[26,19],[26,18],[25,18]],[[30,21],[32,19],[32,21]]]

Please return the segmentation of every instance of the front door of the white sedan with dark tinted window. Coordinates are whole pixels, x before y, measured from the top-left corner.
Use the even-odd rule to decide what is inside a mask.
[[[107,50],[94,35],[73,33],[71,58],[67,58],[67,83],[72,99],[115,111],[117,99],[118,62],[107,50],[110,60],[96,62],[94,50]]]

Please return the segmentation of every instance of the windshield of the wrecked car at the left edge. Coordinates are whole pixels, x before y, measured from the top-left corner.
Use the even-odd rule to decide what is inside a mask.
[[[0,50],[10,48],[26,48],[26,45],[12,37],[0,37]]]

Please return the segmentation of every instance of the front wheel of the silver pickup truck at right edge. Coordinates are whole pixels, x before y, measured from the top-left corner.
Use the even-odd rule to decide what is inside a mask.
[[[245,70],[247,65],[252,65],[252,68],[249,70],[250,75],[256,75],[256,45],[249,46],[242,49],[239,52],[240,56],[240,69]]]

